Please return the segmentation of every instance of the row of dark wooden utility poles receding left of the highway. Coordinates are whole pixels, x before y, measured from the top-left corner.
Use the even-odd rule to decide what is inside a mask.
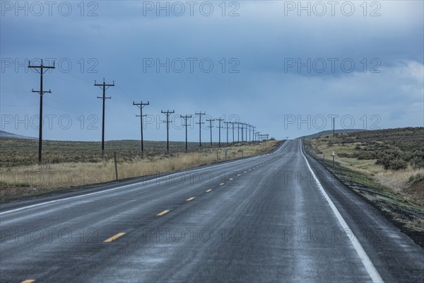
[[[45,93],[51,93],[51,91],[45,91],[43,89],[43,75],[45,74],[45,72],[49,69],[55,69],[54,67],[54,62],[53,62],[53,66],[44,66],[43,62],[41,60],[41,64],[40,65],[31,65],[31,62],[28,63],[28,68],[31,69],[35,69],[39,74],[40,74],[40,91],[32,91],[33,93],[39,93],[40,94],[40,127],[39,127],[39,134],[38,134],[38,164],[41,165],[42,163],[42,98],[43,95]],[[99,86],[102,89],[102,96],[98,96],[99,99],[102,99],[102,154],[104,154],[105,152],[105,100],[107,99],[111,99],[111,97],[107,97],[106,96],[106,91],[108,88],[110,88],[111,86],[114,86],[114,81],[112,83],[106,83],[105,79],[103,78],[103,82],[102,83],[97,83],[97,81],[94,81],[94,86]],[[140,115],[136,115],[136,117],[140,117],[140,132],[141,132],[141,157],[143,157],[144,155],[144,145],[143,145],[143,117],[146,117],[147,115],[143,115],[143,108],[146,105],[150,105],[149,102],[147,103],[143,103],[143,101],[141,101],[140,103],[136,103],[133,102],[133,105],[136,105],[139,109],[140,109]],[[170,149],[170,139],[169,139],[169,125],[170,125],[170,115],[175,113],[174,110],[170,111],[161,111],[163,114],[166,115],[166,120],[163,121],[166,123],[166,149],[167,151],[169,151]],[[199,122],[196,122],[196,124],[199,124],[199,148],[201,148],[201,125],[203,125],[205,122],[203,122],[202,120],[202,116],[206,115],[206,112],[195,112],[194,115],[198,115],[199,116]],[[188,119],[192,117],[192,115],[179,115],[179,117],[181,117],[182,119],[184,119],[184,127],[185,127],[185,149],[186,151],[188,150],[187,147],[187,127],[189,127],[190,125],[188,124]],[[212,145],[212,128],[213,128],[213,121],[218,121],[218,146],[221,146],[221,129],[223,129],[222,125],[225,124],[226,125],[226,129],[227,129],[227,144],[229,143],[228,141],[228,129],[230,129],[229,125],[231,125],[232,128],[232,142],[235,142],[235,135],[234,135],[234,129],[235,129],[235,125],[237,125],[237,141],[240,141],[240,129],[241,129],[241,133],[242,133],[242,139],[241,141],[261,141],[264,139],[269,139],[269,135],[268,134],[260,134],[260,132],[255,132],[255,128],[252,125],[249,125],[247,123],[242,123],[242,122],[229,122],[229,121],[225,121],[224,119],[218,118],[218,119],[206,119],[207,122],[209,122],[209,128],[211,130],[211,145]],[[240,127],[241,125],[241,127]],[[249,136],[247,136],[247,128],[249,127]],[[253,137],[251,135],[251,131],[253,130]],[[245,131],[245,132],[244,132]],[[245,134],[244,134],[245,133]],[[249,137],[249,138],[247,138]]]

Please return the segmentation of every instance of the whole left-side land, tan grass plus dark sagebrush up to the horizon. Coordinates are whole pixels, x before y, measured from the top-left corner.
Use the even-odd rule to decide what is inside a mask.
[[[70,187],[115,180],[114,152],[119,179],[194,168],[216,161],[254,156],[272,151],[278,141],[236,143],[217,149],[218,144],[146,141],[144,158],[139,141],[107,141],[102,156],[99,142],[45,141],[43,165],[37,166],[37,141],[0,139],[0,201],[41,195]],[[218,154],[217,154],[218,152]],[[225,154],[226,152],[226,154]]]

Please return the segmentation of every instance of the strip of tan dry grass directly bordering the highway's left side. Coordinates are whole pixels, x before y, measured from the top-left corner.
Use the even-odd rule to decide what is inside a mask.
[[[278,141],[255,144],[236,144],[224,149],[204,149],[179,152],[169,156],[160,154],[148,158],[134,158],[117,163],[119,179],[180,171],[217,161],[264,154],[276,147]],[[218,159],[217,159],[218,151]],[[225,158],[226,151],[226,158]],[[115,180],[114,161],[99,163],[68,162],[44,166],[15,166],[0,168],[0,199],[61,190],[67,187],[105,183]]]

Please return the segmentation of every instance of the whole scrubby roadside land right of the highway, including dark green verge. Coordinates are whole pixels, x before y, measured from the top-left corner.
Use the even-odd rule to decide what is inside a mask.
[[[323,136],[305,145],[339,180],[424,246],[423,137],[424,128],[384,129]]]

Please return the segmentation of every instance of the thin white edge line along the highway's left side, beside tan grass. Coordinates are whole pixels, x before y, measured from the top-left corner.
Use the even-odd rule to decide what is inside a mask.
[[[281,147],[283,147],[284,145],[286,145],[287,143],[284,143],[284,144],[282,144],[278,149],[281,149]],[[278,150],[277,149],[277,150]],[[216,165],[212,165],[212,166],[208,166],[208,167],[206,167],[206,168],[213,168],[213,167],[219,167],[219,166],[226,166],[226,165],[228,165],[228,164],[231,164],[231,163],[236,163],[236,162],[240,162],[240,161],[246,161],[246,160],[249,160],[249,159],[253,159],[253,158],[258,158],[258,157],[260,157],[260,155],[257,155],[257,156],[251,156],[251,157],[248,157],[248,158],[245,158],[245,159],[239,159],[239,160],[235,160],[235,161],[230,161],[230,162],[228,162],[228,163],[220,163],[220,164],[216,164]],[[64,197],[63,199],[59,199],[59,200],[49,200],[49,201],[47,201],[47,202],[40,202],[40,203],[37,203],[37,204],[31,204],[31,205],[28,205],[27,207],[20,207],[20,208],[16,208],[16,209],[11,209],[11,210],[7,210],[6,212],[0,212],[0,215],[4,215],[4,214],[9,214],[9,213],[12,213],[12,212],[19,212],[20,210],[23,210],[23,209],[28,209],[28,208],[33,208],[33,207],[40,207],[40,206],[42,206],[42,205],[45,205],[45,204],[52,204],[52,203],[54,203],[54,202],[62,202],[62,201],[64,201],[64,200],[73,200],[73,199],[76,199],[76,198],[78,198],[78,197],[87,197],[87,196],[89,196],[89,195],[98,195],[98,194],[102,194],[102,193],[105,193],[105,192],[110,192],[110,191],[112,191],[112,190],[119,190],[119,189],[122,189],[122,188],[124,188],[124,187],[131,187],[131,186],[135,186],[135,185],[141,185],[141,184],[146,184],[146,183],[151,183],[151,182],[153,182],[153,181],[157,181],[157,180],[160,180],[160,179],[163,179],[163,178],[170,178],[170,176],[173,176],[173,175],[177,175],[177,174],[181,174],[181,173],[186,173],[186,172],[192,172],[192,171],[197,171],[197,170],[204,170],[204,169],[206,169],[206,168],[193,168],[193,169],[189,169],[189,170],[187,170],[187,171],[183,171],[183,172],[177,172],[177,173],[173,173],[173,174],[171,174],[171,175],[165,175],[165,176],[162,176],[162,177],[158,177],[158,178],[153,178],[153,179],[151,179],[151,180],[147,180],[147,181],[141,181],[141,182],[139,182],[139,183],[134,183],[134,184],[129,184],[129,185],[123,185],[123,186],[119,186],[119,187],[112,187],[112,188],[110,188],[110,189],[107,189],[107,190],[100,190],[100,191],[98,191],[98,192],[90,192],[90,193],[88,193],[88,194],[83,194],[83,195],[76,195],[76,196],[74,196],[74,197]],[[94,184],[93,184],[94,185]]]

